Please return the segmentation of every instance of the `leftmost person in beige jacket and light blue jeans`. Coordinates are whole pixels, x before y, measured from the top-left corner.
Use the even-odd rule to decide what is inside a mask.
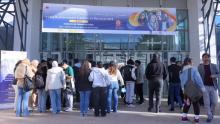
[[[30,91],[26,92],[23,89],[25,75],[27,75],[30,78],[34,76],[34,73],[32,72],[32,68],[30,66],[30,61],[28,59],[22,60],[22,62],[17,66],[15,70],[15,78],[17,79],[18,87],[18,101],[16,105],[17,117],[27,117],[30,115],[28,111]]]

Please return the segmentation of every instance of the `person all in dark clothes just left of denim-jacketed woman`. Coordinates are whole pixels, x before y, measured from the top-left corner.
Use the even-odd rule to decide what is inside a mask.
[[[168,73],[169,73],[169,98],[171,108],[170,111],[174,111],[174,101],[175,99],[179,103],[180,109],[182,108],[182,99],[180,96],[181,92],[181,84],[179,73],[181,71],[181,67],[176,64],[176,58],[170,58],[171,65],[168,66]]]

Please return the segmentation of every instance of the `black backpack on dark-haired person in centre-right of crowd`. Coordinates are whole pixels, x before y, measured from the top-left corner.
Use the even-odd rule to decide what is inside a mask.
[[[133,67],[131,65],[126,65],[122,69],[122,77],[123,77],[124,81],[135,81],[131,76],[132,69],[133,69]]]

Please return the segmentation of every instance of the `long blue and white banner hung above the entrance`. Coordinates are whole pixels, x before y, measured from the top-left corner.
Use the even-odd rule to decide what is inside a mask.
[[[175,8],[43,4],[42,32],[176,34]]]

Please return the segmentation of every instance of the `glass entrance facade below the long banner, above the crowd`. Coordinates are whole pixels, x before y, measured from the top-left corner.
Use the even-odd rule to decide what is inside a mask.
[[[125,62],[146,60],[146,54],[159,52],[165,61],[170,54],[181,58],[189,51],[188,12],[177,10],[177,35],[42,33],[41,58],[93,59]],[[171,56],[171,55],[170,55]]]

